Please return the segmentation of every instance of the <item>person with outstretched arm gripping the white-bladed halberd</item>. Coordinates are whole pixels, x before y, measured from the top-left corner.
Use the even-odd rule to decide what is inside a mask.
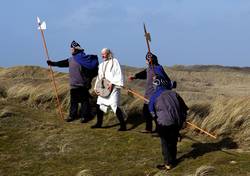
[[[97,55],[87,55],[84,49],[76,41],[70,44],[72,56],[57,62],[47,61],[50,66],[69,67],[70,81],[70,110],[69,115],[65,118],[71,122],[78,117],[78,104],[80,107],[80,119],[82,123],[90,119],[89,113],[89,89],[91,88],[92,79],[97,75],[98,57]]]

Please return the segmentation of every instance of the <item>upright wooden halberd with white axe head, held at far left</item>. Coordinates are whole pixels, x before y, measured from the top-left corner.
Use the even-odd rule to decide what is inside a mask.
[[[47,60],[49,60],[49,52],[48,52],[47,44],[46,44],[45,37],[44,37],[44,30],[46,29],[46,23],[45,22],[41,23],[39,17],[37,17],[37,23],[38,23],[38,29],[40,30],[41,35],[42,35],[45,55],[47,57]],[[58,89],[57,89],[57,85],[56,85],[56,82],[55,82],[55,76],[54,76],[53,69],[52,69],[52,67],[50,65],[49,65],[49,70],[50,70],[50,77],[51,77],[52,83],[54,85],[54,90],[55,90],[55,93],[56,93],[56,100],[57,100],[59,115],[63,119],[63,113],[62,113],[61,103],[60,103],[59,96],[58,96]]]

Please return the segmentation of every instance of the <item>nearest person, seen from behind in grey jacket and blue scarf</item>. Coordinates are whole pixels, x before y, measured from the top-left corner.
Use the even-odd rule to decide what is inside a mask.
[[[179,94],[169,90],[168,82],[161,76],[154,77],[153,85],[155,91],[150,97],[149,111],[158,124],[164,158],[164,164],[157,168],[169,170],[177,164],[177,141],[186,121],[188,107]]]

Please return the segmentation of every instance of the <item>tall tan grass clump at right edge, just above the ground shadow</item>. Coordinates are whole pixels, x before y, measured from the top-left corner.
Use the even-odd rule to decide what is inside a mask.
[[[250,143],[250,98],[219,98],[216,99],[209,110],[201,107],[207,112],[205,118],[198,124],[218,136],[232,136],[235,141],[243,144]],[[191,110],[194,110],[193,108]],[[202,110],[201,110],[202,111]],[[194,119],[197,116],[193,116]],[[197,122],[197,120],[194,120]]]

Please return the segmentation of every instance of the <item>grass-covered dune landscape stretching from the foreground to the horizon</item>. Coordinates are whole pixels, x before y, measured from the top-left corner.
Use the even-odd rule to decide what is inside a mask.
[[[126,76],[142,69],[123,67]],[[103,129],[64,122],[56,112],[48,69],[0,68],[0,175],[249,175],[250,68],[166,67],[176,91],[190,107],[188,121],[217,139],[187,126],[178,143],[179,164],[159,172],[160,142],[144,128],[143,101],[122,91],[128,131],[118,132],[112,113]],[[65,116],[69,105],[67,73],[55,73]],[[145,81],[126,82],[143,94]],[[96,96],[93,93],[92,105]]]

